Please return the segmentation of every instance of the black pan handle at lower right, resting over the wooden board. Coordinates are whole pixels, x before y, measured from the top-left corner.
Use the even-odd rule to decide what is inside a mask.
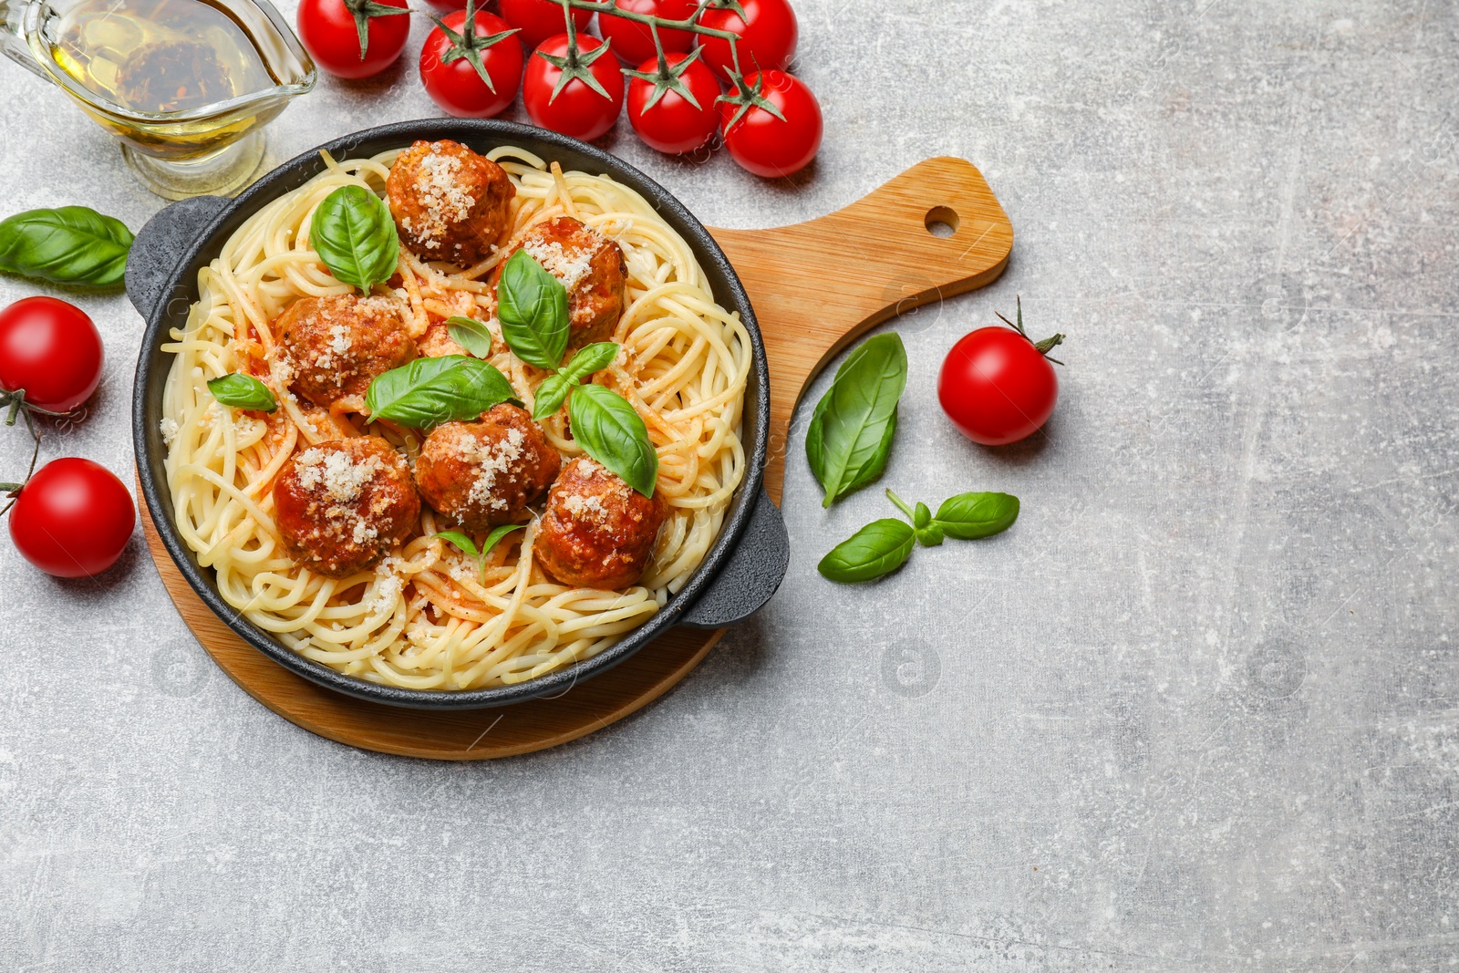
[[[740,546],[705,594],[689,607],[680,624],[690,629],[724,629],[744,621],[775,595],[791,566],[791,537],[781,509],[760,487]]]

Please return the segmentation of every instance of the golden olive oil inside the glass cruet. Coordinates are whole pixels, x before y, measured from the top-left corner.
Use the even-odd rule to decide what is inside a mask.
[[[82,0],[51,57],[88,92],[136,112],[185,112],[279,83],[254,39],[201,0]]]

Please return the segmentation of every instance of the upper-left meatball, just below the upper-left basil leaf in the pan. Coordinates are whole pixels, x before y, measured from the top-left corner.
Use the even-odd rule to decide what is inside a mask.
[[[299,298],[273,324],[293,387],[328,408],[363,404],[369,384],[416,357],[400,303],[390,298]]]

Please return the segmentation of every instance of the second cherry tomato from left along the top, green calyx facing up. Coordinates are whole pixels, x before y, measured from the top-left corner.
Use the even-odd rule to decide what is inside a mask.
[[[522,44],[512,35],[487,48],[474,47],[480,41],[473,41],[467,35],[465,13],[457,10],[441,20],[463,39],[463,44],[454,42],[439,26],[426,36],[426,44],[420,48],[420,80],[430,99],[448,114],[458,118],[490,118],[516,101],[516,89],[522,83]],[[476,12],[476,38],[489,38],[511,29],[502,18]],[[477,74],[471,58],[464,55],[468,50],[480,55],[481,67],[492,79],[490,86]],[[452,53],[457,53],[455,60],[445,63],[444,58]],[[492,90],[493,88],[496,90]]]

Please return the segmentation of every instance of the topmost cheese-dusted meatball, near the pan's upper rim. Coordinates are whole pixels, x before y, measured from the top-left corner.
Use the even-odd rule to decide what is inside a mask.
[[[516,187],[506,169],[455,142],[417,142],[385,181],[400,238],[427,260],[470,267],[511,225]]]

